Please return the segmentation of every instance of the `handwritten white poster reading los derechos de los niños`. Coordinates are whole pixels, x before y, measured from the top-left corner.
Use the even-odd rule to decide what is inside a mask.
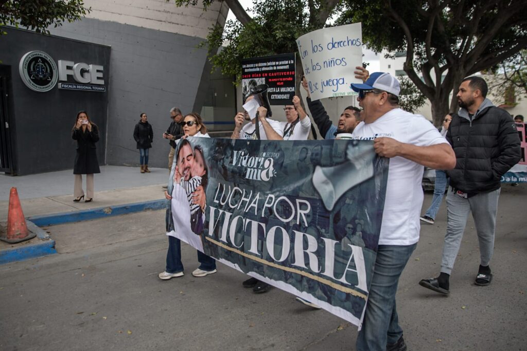
[[[350,84],[355,66],[362,66],[360,23],[318,29],[297,39],[298,52],[312,100],[356,95]]]

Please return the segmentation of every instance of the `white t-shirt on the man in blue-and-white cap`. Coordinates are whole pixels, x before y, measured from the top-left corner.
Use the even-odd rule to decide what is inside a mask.
[[[430,121],[400,108],[373,123],[360,123],[353,131],[354,139],[383,136],[416,146],[448,144]],[[422,165],[409,159],[399,156],[390,159],[379,245],[412,245],[419,241],[423,171]]]

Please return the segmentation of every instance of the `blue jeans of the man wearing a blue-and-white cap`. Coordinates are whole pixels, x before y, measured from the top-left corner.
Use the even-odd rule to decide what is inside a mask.
[[[395,344],[403,335],[395,294],[399,277],[416,246],[379,245],[357,350],[386,350],[387,344]]]

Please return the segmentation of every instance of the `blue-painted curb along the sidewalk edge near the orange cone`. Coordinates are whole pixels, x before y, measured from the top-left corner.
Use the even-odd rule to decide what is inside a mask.
[[[55,249],[55,240],[40,227],[81,222],[97,218],[124,215],[127,213],[141,212],[144,210],[156,210],[166,208],[167,200],[152,200],[147,202],[138,202],[133,204],[97,207],[75,212],[62,212],[51,215],[41,215],[26,218],[27,228],[37,234],[41,243],[20,246],[12,249],[0,250],[0,265],[22,261],[30,258],[53,255],[57,253]]]

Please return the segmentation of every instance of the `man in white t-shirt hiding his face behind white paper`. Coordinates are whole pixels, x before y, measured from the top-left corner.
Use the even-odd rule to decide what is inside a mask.
[[[251,101],[254,96],[249,96],[246,103]],[[258,118],[260,124],[260,140],[284,140],[282,137],[284,131],[281,124],[274,119],[267,118],[267,108],[264,106],[258,107]],[[238,112],[234,117],[235,128],[232,132],[231,139],[258,139],[256,136],[256,118],[249,117],[247,111]],[[245,121],[250,121],[245,126],[242,125]]]

